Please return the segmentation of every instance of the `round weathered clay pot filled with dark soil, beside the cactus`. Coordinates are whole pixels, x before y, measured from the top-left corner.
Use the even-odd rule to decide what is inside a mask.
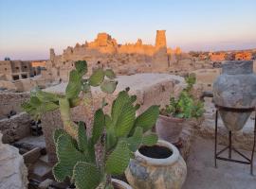
[[[155,146],[141,146],[125,171],[134,189],[179,189],[187,176],[187,165],[178,149],[159,140]]]

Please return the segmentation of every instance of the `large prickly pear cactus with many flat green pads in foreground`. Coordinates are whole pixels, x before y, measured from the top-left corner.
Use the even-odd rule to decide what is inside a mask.
[[[136,116],[139,109],[135,104],[137,96],[129,95],[129,89],[126,89],[114,100],[110,114],[103,112],[107,104],[102,100],[102,107],[94,114],[89,136],[83,122],[75,124],[72,121],[70,109],[80,103],[89,105],[91,86],[101,86],[103,92],[111,94],[117,82],[113,80],[115,74],[112,70],[97,69],[91,77],[83,79],[86,72],[86,62],[77,61],[76,70],[70,72],[64,95],[38,90],[31,94],[23,108],[37,118],[44,112],[57,109],[61,112],[64,129],[54,132],[58,163],[52,172],[56,180],[68,178],[78,189],[128,189],[127,184],[111,178],[123,174],[138,146],[155,145],[157,136],[144,133],[155,125],[159,107],[152,106]],[[101,144],[100,157],[97,157],[97,144]]]

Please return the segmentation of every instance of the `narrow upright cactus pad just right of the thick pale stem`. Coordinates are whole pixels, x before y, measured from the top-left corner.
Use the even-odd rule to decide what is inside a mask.
[[[88,151],[88,141],[87,141],[87,135],[86,130],[84,128],[84,122],[80,121],[78,129],[78,147],[82,152],[87,153]]]

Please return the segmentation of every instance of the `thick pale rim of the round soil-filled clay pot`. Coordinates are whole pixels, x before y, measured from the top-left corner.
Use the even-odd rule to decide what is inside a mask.
[[[155,159],[155,158],[150,158],[150,157],[142,155],[137,149],[137,151],[135,153],[135,156],[136,156],[135,159],[142,163],[158,165],[158,166],[171,165],[178,161],[179,151],[173,144],[171,144],[167,141],[164,141],[164,140],[158,140],[156,143],[156,146],[165,146],[165,147],[169,148],[173,152],[173,154],[168,158]]]

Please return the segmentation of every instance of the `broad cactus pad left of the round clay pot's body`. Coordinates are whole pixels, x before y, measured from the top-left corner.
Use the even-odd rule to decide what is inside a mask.
[[[106,172],[111,175],[122,174],[130,162],[130,149],[125,141],[119,141],[106,161]]]

